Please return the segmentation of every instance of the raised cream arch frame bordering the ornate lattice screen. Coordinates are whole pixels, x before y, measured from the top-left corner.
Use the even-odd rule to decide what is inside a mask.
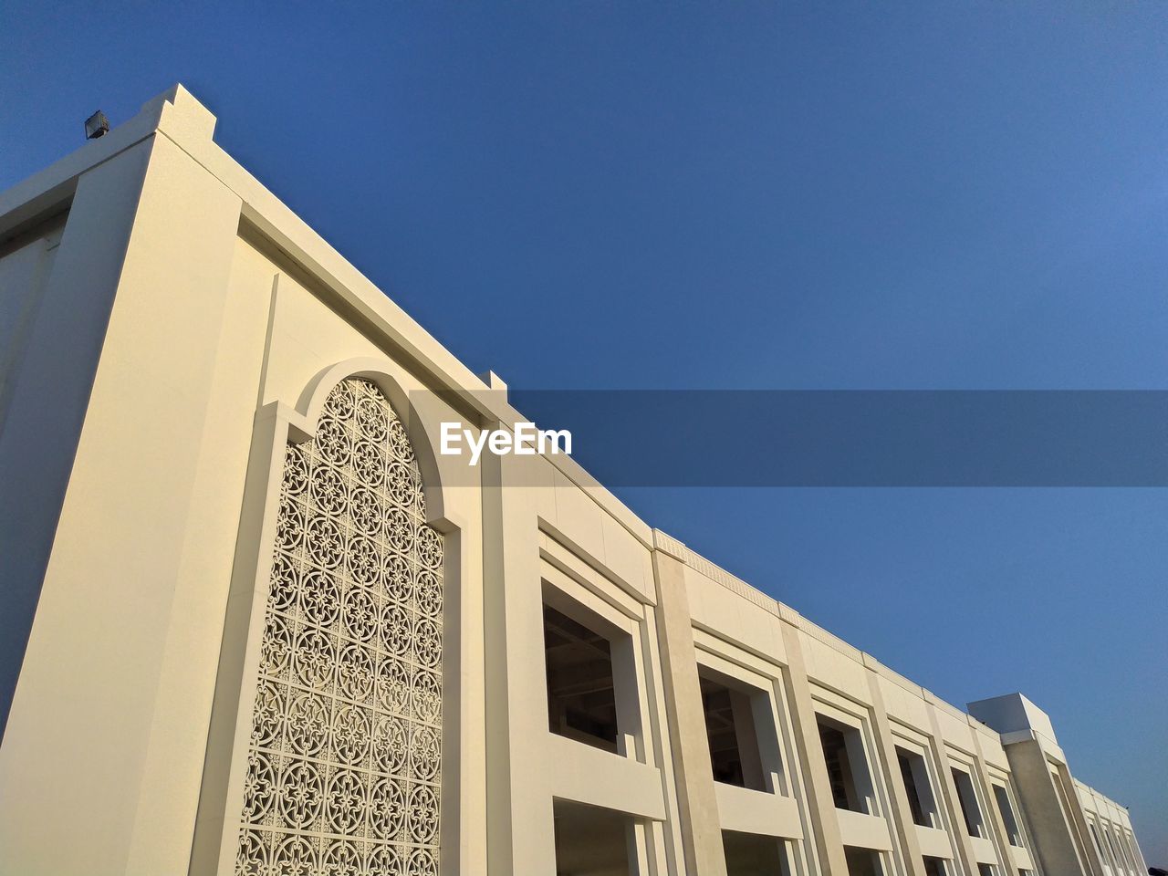
[[[294,404],[273,401],[256,411],[243,489],[231,584],[216,674],[207,753],[194,825],[189,876],[234,876],[242,826],[252,709],[258,689],[260,646],[276,556],[276,524],[284,460],[290,444],[312,440],[325,401],[345,380],[367,380],[389,401],[410,439],[422,475],[425,522],[443,538],[443,724],[439,876],[460,872],[463,591],[470,542],[467,521],[452,501],[432,439],[434,426],[410,399],[389,359],[354,357],[313,376]],[[446,477],[444,477],[444,474]],[[451,679],[453,683],[446,683]]]

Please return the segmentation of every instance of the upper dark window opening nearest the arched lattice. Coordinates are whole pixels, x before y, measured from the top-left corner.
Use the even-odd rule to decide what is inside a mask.
[[[609,640],[551,606],[543,606],[551,732],[617,751],[617,698]]]

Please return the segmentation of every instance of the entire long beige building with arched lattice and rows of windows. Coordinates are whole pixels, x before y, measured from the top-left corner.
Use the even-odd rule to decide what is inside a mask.
[[[1024,697],[941,702],[568,456],[440,453],[506,387],[214,125],[175,88],[0,196],[0,874],[1146,871]]]

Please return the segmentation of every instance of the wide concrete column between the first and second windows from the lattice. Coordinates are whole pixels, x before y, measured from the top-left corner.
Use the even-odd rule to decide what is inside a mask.
[[[686,597],[684,564],[653,551],[658,585],[658,641],[665,676],[666,717],[677,781],[682,850],[690,876],[725,876],[722,826],[697,681],[694,630]]]

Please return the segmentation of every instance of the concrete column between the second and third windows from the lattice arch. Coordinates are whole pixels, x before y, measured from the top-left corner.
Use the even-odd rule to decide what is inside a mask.
[[[786,686],[791,723],[799,762],[802,764],[802,786],[807,794],[807,814],[818,842],[819,872],[825,876],[847,874],[848,863],[840,839],[840,821],[835,814],[832,785],[823,760],[823,746],[819,741],[819,724],[815,721],[815,703],[811,697],[811,682],[804,662],[799,630],[783,621],[783,642],[787,652],[787,672],[783,681]]]

